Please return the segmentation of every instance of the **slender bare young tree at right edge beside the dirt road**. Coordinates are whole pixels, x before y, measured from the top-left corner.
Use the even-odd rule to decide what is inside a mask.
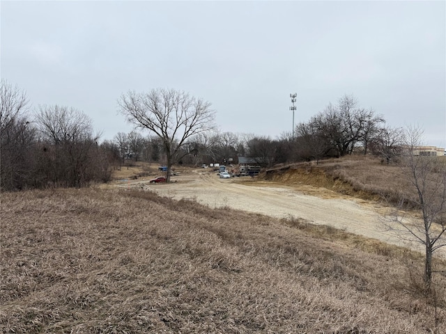
[[[407,220],[401,214],[395,214],[393,224],[387,225],[398,232],[400,237],[409,236],[424,246],[424,283],[426,290],[430,291],[432,255],[439,248],[446,246],[446,166],[438,157],[417,153],[421,137],[420,129],[406,130],[406,157],[401,161],[414,196],[402,196],[399,211],[415,207],[420,210],[422,218]]]

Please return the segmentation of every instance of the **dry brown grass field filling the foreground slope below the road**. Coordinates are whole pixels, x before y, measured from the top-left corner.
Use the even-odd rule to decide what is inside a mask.
[[[1,195],[0,243],[0,333],[446,332],[417,255],[295,220],[26,191]]]

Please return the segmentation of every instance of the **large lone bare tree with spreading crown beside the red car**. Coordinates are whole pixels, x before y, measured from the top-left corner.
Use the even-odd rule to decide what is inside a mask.
[[[187,138],[215,128],[215,111],[210,109],[210,102],[179,90],[130,91],[121,95],[118,106],[128,122],[148,129],[162,140],[167,157],[167,182],[171,166],[178,160],[178,152]]]

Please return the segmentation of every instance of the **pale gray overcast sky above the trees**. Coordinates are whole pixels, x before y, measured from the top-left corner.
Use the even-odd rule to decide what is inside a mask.
[[[33,106],[130,132],[128,90],[210,101],[223,132],[275,138],[353,94],[446,145],[445,1],[1,1],[1,77]]]

